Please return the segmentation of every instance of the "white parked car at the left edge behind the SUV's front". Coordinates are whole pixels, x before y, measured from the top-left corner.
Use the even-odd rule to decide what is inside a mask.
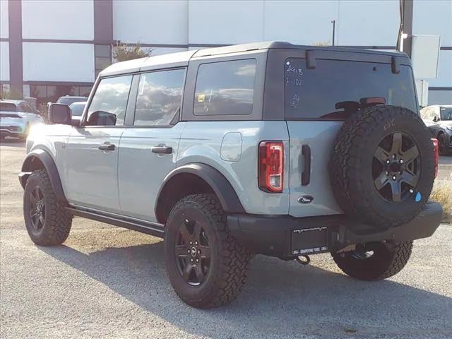
[[[0,100],[0,138],[27,138],[31,126],[44,122],[24,100]]]

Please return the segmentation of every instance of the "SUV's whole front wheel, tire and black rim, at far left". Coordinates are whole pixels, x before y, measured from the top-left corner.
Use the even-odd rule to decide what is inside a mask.
[[[69,236],[72,217],[57,200],[44,169],[32,172],[25,184],[23,216],[28,234],[37,245],[58,245]]]

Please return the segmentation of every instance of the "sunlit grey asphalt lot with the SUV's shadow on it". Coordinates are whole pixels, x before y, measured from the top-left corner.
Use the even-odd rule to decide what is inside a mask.
[[[63,245],[33,244],[23,143],[7,139],[0,155],[1,338],[452,338],[451,225],[377,283],[347,278],[326,254],[311,266],[256,256],[236,301],[198,310],[172,291],[160,239],[76,218]],[[452,157],[441,164],[452,179]]]

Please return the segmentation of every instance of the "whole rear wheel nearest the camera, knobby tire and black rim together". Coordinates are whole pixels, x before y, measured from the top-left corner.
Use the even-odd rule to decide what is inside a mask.
[[[237,296],[251,253],[230,234],[218,199],[194,194],[182,198],[169,213],[165,258],[177,295],[192,307],[209,308]]]

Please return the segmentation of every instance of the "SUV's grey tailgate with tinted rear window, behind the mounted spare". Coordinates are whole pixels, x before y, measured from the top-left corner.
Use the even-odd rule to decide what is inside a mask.
[[[417,112],[410,66],[401,65],[400,73],[392,73],[391,57],[377,55],[379,62],[372,62],[369,55],[372,54],[364,55],[365,62],[352,61],[361,58],[359,53],[350,60],[340,56],[319,58],[309,68],[304,57],[287,57],[284,61],[284,110],[290,135],[290,215],[342,213],[333,197],[328,162],[335,136],[343,121],[356,112],[359,100],[383,97],[387,105]]]

